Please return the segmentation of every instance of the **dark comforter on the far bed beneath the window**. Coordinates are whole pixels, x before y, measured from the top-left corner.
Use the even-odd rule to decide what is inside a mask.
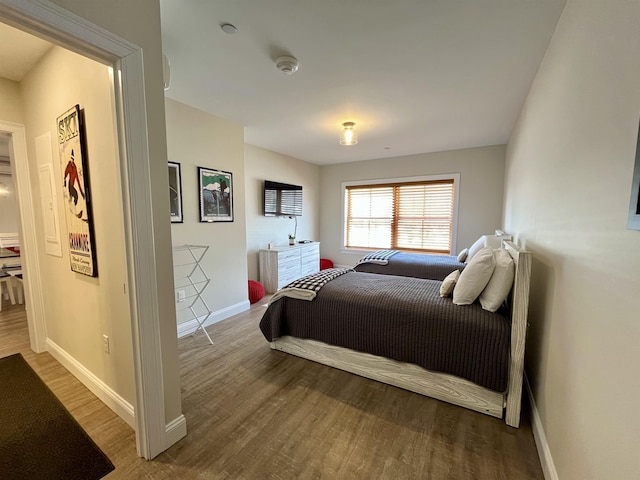
[[[356,272],[400,275],[442,281],[454,270],[462,271],[465,266],[466,263],[458,262],[458,257],[456,256],[399,252],[389,258],[389,263],[386,265],[361,263],[353,269]]]

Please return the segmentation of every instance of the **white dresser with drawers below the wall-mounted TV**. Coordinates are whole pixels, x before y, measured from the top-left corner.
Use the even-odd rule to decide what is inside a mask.
[[[260,250],[260,282],[276,292],[296,278],[320,271],[320,242],[278,245]]]

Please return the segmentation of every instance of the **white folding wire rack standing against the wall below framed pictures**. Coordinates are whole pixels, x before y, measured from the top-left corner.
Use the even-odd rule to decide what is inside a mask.
[[[211,279],[202,267],[202,259],[209,250],[208,245],[178,245],[173,247],[174,288],[176,293],[176,315],[179,320],[195,320],[198,326],[192,335],[202,330],[213,345],[213,340],[204,328],[213,314],[202,293]],[[186,314],[186,315],[185,315]],[[182,317],[182,318],[180,318]]]

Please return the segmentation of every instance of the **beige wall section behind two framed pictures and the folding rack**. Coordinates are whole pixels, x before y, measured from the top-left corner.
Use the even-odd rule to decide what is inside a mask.
[[[166,99],[166,118],[169,161],[179,163],[182,171],[184,223],[171,225],[173,244],[210,247],[202,262],[211,278],[203,298],[214,312],[242,308],[243,303],[246,309],[244,128],[169,98]],[[233,222],[200,223],[198,167],[232,173]],[[165,221],[169,222],[168,216]],[[180,256],[176,256],[176,263],[181,262]],[[189,313],[181,311],[178,322],[189,320]]]

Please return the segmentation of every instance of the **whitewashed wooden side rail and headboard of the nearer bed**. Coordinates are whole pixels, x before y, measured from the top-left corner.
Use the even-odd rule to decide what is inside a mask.
[[[516,267],[511,290],[509,383],[505,393],[494,392],[453,375],[431,372],[410,363],[336,347],[317,340],[284,336],[272,341],[271,348],[493,417],[504,418],[507,425],[518,428],[522,404],[531,254],[507,240],[503,242],[503,248],[509,252]]]

